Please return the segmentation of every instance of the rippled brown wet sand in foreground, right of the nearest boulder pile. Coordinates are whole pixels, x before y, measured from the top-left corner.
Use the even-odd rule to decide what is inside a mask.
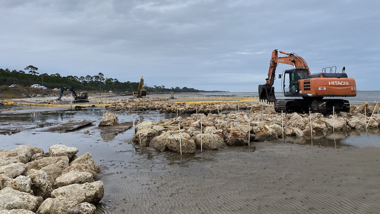
[[[127,162],[100,165],[105,194],[96,213],[378,213],[379,155],[378,147],[291,143],[182,158],[137,149]]]

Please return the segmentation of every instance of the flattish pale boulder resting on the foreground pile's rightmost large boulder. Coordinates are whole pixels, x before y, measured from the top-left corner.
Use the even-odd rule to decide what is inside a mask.
[[[70,184],[83,184],[86,182],[94,182],[94,177],[91,173],[70,171],[56,179],[56,187],[67,186]]]

